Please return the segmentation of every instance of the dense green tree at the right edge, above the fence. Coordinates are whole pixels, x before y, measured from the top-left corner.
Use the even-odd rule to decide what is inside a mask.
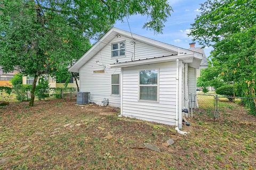
[[[255,6],[255,0],[207,0],[190,32],[200,44],[213,46],[211,61],[218,78],[238,84],[247,97],[255,97]]]

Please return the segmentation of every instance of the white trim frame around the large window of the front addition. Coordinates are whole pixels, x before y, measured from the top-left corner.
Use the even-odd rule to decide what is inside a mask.
[[[140,71],[143,71],[143,70],[157,70],[157,84],[140,84]],[[138,101],[147,102],[147,103],[159,103],[159,76],[160,76],[160,69],[147,68],[147,69],[139,70],[139,72],[138,72]],[[141,86],[157,86],[157,100],[141,100],[140,99],[140,87]]]

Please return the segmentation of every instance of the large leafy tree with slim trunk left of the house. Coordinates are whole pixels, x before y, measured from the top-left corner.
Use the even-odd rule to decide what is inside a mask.
[[[38,77],[55,76],[81,57],[116,20],[148,16],[143,28],[162,32],[171,14],[167,0],[2,0],[0,2],[0,65],[34,77],[30,106]]]

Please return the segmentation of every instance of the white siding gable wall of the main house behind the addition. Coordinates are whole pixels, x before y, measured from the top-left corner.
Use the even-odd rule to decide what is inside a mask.
[[[111,57],[111,43],[125,41],[126,55],[122,57]],[[103,66],[96,63],[108,65],[119,62],[131,61],[133,56],[133,45],[131,41],[135,41],[135,60],[157,57],[163,55],[171,55],[172,52],[163,50],[137,40],[121,36],[121,38],[114,38],[108,45],[102,46],[99,53],[91,58],[79,69],[80,75],[80,91],[91,92],[91,101],[93,103],[102,105],[103,98],[109,99],[110,106],[120,107],[120,95],[111,95],[111,74],[120,74],[121,69],[105,69],[105,73],[93,73],[93,71],[104,70]]]

